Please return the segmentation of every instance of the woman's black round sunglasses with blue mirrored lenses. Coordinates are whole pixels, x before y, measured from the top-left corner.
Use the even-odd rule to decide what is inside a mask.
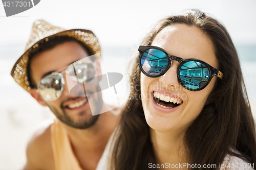
[[[187,90],[199,91],[204,89],[212,77],[222,79],[223,74],[218,69],[198,59],[183,60],[180,57],[171,56],[158,46],[139,46],[139,66],[144,75],[157,78],[165,74],[172,66],[172,60],[180,64],[177,68],[179,83]]]

